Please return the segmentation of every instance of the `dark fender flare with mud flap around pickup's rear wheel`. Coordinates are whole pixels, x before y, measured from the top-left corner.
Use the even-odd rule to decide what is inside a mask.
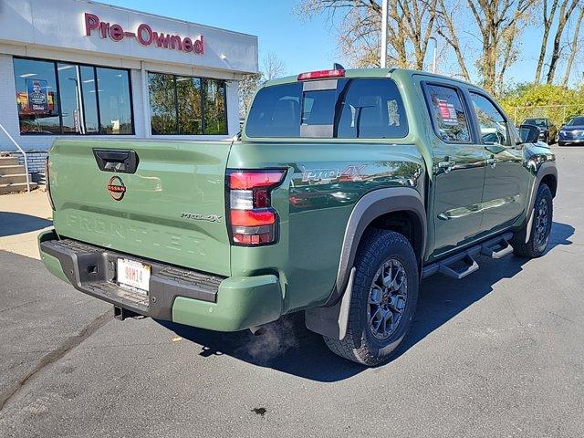
[[[422,263],[426,247],[426,209],[422,195],[413,188],[395,187],[378,189],[365,194],[355,204],[345,228],[340,252],[339,269],[333,291],[327,302],[305,312],[307,327],[330,338],[343,339],[349,320],[352,280],[355,275],[353,263],[361,237],[367,227],[383,214],[408,212],[416,218],[416,229],[420,233],[414,252]]]

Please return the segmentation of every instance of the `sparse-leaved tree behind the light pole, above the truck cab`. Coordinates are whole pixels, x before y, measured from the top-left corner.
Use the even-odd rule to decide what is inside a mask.
[[[388,59],[401,68],[423,69],[438,0],[389,0]],[[300,0],[301,16],[325,14],[339,30],[339,48],[354,67],[379,67],[380,0]]]

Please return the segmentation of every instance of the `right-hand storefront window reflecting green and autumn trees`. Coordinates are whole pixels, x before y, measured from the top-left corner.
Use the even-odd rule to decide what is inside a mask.
[[[222,80],[150,73],[153,135],[227,133]]]

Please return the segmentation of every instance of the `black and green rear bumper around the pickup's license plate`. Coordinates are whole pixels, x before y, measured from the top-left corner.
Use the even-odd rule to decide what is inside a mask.
[[[53,275],[85,294],[147,317],[237,331],[274,321],[281,314],[282,293],[273,275],[213,276],[71,239],[58,239],[54,231],[39,235],[38,245],[41,259]],[[151,266],[148,295],[115,283],[116,261],[120,257]]]

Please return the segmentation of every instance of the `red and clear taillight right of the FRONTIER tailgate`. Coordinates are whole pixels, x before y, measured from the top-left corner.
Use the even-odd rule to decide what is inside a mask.
[[[285,169],[227,171],[228,226],[234,245],[276,242],[278,218],[272,208],[271,192],[285,175]]]

